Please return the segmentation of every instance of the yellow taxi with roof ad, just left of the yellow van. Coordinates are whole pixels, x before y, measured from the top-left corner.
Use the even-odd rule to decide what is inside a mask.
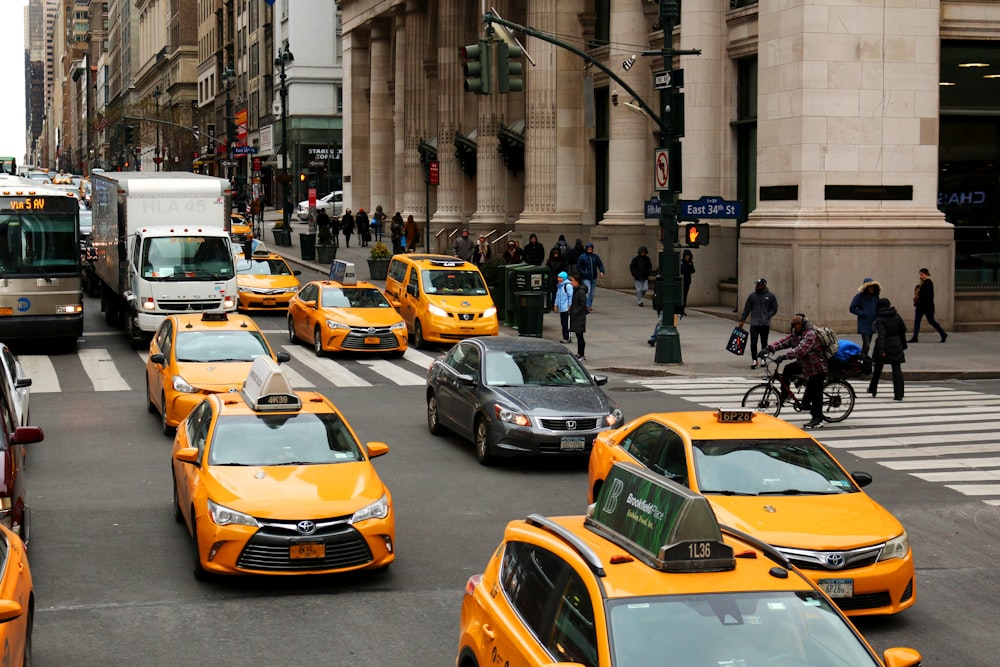
[[[406,352],[406,324],[375,285],[358,281],[351,262],[336,261],[338,280],[306,284],[288,303],[288,338],[327,352]],[[339,268],[338,268],[339,267]]]

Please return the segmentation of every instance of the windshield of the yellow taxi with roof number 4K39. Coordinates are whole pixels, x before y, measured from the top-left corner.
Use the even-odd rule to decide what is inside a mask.
[[[360,446],[335,413],[221,417],[209,465],[277,466],[361,461]]]

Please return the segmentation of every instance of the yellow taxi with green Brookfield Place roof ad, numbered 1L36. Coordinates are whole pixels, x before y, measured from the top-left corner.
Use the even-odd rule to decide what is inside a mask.
[[[507,525],[462,600],[456,667],[913,666],[880,660],[781,553],[700,496],[617,464],[585,516]]]

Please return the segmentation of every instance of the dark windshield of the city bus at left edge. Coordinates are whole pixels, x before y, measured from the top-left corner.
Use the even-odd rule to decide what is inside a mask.
[[[0,274],[75,273],[80,247],[76,217],[0,214]]]

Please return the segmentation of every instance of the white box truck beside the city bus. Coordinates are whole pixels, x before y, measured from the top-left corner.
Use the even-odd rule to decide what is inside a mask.
[[[125,171],[91,180],[101,310],[133,346],[172,313],[236,310],[228,180]]]

